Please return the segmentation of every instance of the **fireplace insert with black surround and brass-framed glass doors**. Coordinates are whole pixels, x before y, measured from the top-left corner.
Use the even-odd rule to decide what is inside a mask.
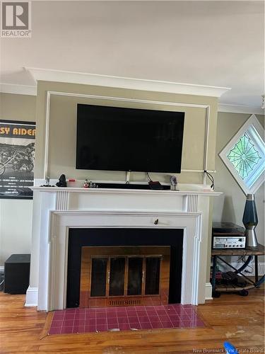
[[[66,307],[180,302],[182,244],[183,229],[69,229]]]

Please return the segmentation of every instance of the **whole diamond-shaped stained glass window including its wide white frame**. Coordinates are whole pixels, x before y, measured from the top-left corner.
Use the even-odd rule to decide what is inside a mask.
[[[247,193],[255,193],[265,178],[264,128],[251,115],[219,154],[235,181]]]

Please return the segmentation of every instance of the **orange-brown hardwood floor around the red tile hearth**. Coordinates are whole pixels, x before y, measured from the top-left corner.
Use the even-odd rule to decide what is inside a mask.
[[[47,313],[24,307],[25,295],[0,292],[0,353],[264,353],[264,288],[223,294],[197,307],[204,329],[163,329],[47,336]],[[219,350],[218,350],[219,349]]]

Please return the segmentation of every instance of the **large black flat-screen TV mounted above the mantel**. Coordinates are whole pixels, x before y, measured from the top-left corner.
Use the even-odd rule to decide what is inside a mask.
[[[179,173],[184,113],[77,105],[76,169]]]

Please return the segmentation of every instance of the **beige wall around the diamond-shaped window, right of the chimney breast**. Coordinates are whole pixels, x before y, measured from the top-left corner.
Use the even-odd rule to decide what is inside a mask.
[[[214,200],[213,221],[235,222],[242,225],[242,216],[245,208],[246,196],[232,177],[218,154],[223,150],[230,139],[242,127],[249,114],[218,113],[216,137],[216,190],[223,192],[220,198]],[[257,115],[259,122],[264,126],[264,117]],[[264,183],[255,193],[259,224],[256,232],[259,243],[264,244]]]

